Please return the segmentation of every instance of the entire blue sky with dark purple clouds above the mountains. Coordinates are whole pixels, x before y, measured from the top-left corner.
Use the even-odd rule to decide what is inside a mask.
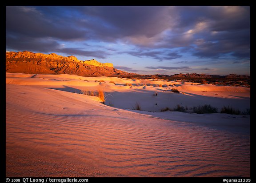
[[[138,74],[250,75],[250,6],[6,6],[6,51]]]

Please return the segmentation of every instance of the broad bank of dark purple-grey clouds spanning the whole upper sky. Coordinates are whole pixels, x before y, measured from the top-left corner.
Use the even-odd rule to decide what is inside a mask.
[[[139,50],[123,53],[158,61],[187,53],[199,58],[250,59],[250,7],[7,6],[6,37],[7,48],[17,50],[53,52],[59,49],[59,41],[120,41]],[[82,48],[62,52],[99,58],[107,54]]]

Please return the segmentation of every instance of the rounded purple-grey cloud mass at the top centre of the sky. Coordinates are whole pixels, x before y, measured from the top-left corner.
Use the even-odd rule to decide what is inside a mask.
[[[105,28],[115,28],[118,36],[152,37],[173,24],[173,7],[164,6],[99,6],[81,8],[85,15],[99,17]],[[106,30],[106,29],[105,29]]]

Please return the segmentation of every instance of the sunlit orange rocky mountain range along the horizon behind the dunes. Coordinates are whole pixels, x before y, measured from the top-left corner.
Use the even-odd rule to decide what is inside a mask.
[[[230,74],[227,76],[206,75],[206,74],[175,74],[169,75],[140,75],[131,72],[124,72],[114,68],[111,63],[100,63],[92,60],[78,60],[75,56],[59,56],[55,53],[42,54],[33,52],[6,52],[6,72],[27,73],[27,74],[72,74],[78,76],[115,76],[115,77],[141,77],[141,78],[198,78],[198,79],[249,79],[247,75]]]

